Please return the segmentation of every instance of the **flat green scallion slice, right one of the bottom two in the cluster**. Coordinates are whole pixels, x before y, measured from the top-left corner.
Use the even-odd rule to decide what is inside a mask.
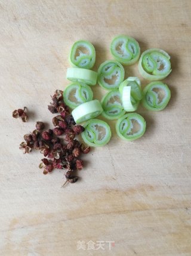
[[[146,122],[137,113],[128,113],[116,122],[116,132],[124,140],[137,140],[143,136],[146,130]]]

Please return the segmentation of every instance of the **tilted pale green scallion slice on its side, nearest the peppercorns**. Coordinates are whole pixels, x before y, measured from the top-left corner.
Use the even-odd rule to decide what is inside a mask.
[[[91,118],[95,118],[103,112],[100,101],[93,100],[83,103],[72,110],[72,116],[76,124],[85,122]]]

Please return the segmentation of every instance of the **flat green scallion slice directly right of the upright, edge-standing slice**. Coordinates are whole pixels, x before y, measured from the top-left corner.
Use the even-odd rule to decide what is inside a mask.
[[[171,98],[171,91],[160,81],[149,83],[143,89],[142,104],[147,110],[160,111],[165,109]]]

